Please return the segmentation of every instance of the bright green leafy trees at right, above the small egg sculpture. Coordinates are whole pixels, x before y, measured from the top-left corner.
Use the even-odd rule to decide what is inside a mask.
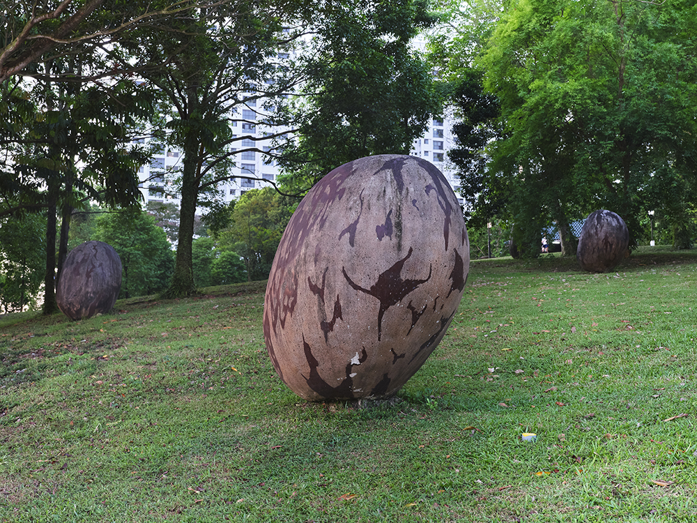
[[[694,2],[476,1],[447,9],[434,39],[470,225],[514,224],[523,252],[595,209],[625,219],[636,245],[648,211],[691,246],[697,182]]]

